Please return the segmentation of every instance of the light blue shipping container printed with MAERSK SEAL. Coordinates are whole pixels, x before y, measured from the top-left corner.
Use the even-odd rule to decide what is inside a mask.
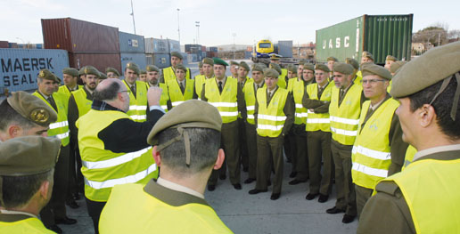
[[[62,78],[62,69],[69,67],[64,50],[0,49],[0,92],[37,89],[40,69],[49,69]]]

